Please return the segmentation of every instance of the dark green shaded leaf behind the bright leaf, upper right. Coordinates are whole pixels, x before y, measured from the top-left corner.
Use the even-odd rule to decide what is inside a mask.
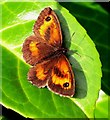
[[[110,69],[108,62],[110,59],[110,13],[108,13],[98,3],[95,2],[71,2],[71,4],[61,2],[60,4],[66,7],[69,12],[77,18],[77,20],[87,30],[87,33],[90,35],[92,40],[95,42],[103,65],[101,88],[106,94],[110,95]],[[105,5],[107,4],[109,3],[106,3]]]

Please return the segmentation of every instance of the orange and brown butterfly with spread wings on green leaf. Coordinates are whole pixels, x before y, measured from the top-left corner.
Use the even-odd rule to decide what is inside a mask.
[[[72,67],[62,48],[62,32],[56,13],[47,7],[39,14],[33,28],[34,35],[23,43],[23,58],[32,67],[28,80],[38,88],[47,86],[64,97],[75,93]]]

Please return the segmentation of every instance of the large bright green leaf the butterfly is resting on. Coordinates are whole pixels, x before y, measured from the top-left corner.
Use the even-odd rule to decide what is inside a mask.
[[[30,66],[22,58],[22,44],[33,34],[33,24],[47,6],[59,17],[64,46],[78,53],[67,54],[76,79],[73,98],[60,97],[47,88],[39,89],[27,80]],[[6,2],[2,11],[2,105],[29,118],[93,117],[101,63],[94,43],[74,16],[57,2]]]

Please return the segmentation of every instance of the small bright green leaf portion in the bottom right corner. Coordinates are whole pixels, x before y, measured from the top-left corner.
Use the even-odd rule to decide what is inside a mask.
[[[108,95],[100,90],[95,108],[95,118],[108,118]]]

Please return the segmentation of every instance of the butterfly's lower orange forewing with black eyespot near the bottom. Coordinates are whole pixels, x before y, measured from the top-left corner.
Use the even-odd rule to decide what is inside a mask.
[[[48,88],[61,96],[73,96],[75,93],[75,79],[68,59],[61,55],[54,64]]]

